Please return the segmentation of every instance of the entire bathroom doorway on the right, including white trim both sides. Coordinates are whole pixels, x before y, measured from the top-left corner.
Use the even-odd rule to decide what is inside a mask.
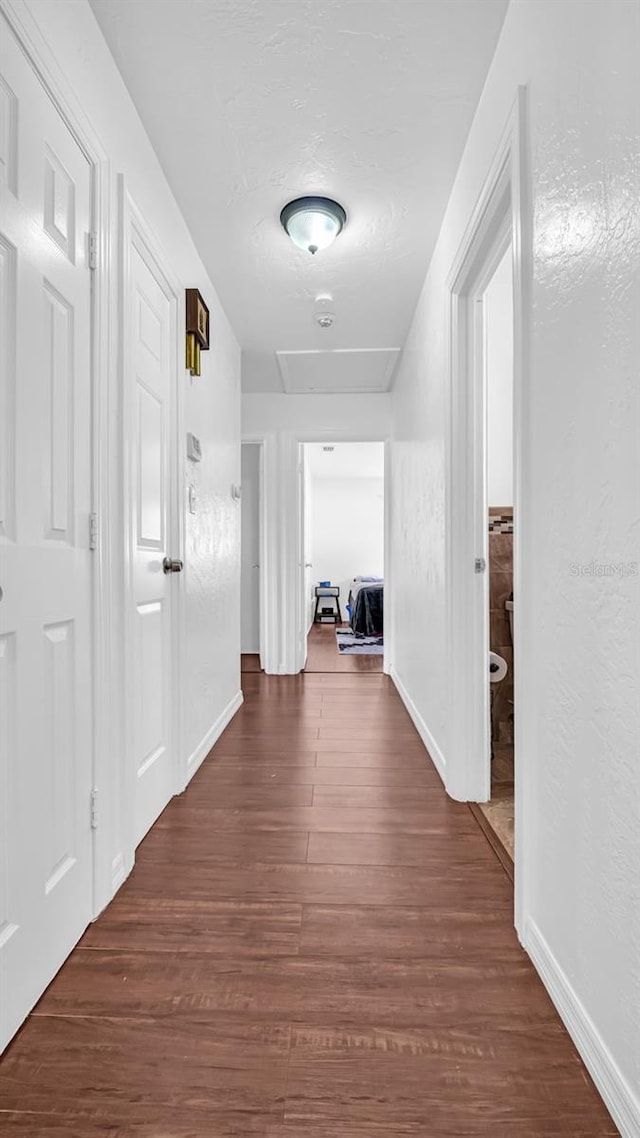
[[[523,602],[526,559],[522,554],[523,484],[527,469],[523,422],[530,390],[526,382],[528,318],[525,314],[530,306],[531,279],[525,110],[525,91],[518,89],[492,168],[449,277],[451,385],[446,525],[450,597],[446,789],[452,798],[469,803],[511,876],[516,927],[520,934],[528,888],[528,861],[524,856],[527,849],[524,803],[528,744],[519,698],[526,684],[523,641],[526,644],[528,619]],[[491,353],[494,357],[498,353],[502,386],[498,381],[495,391],[490,393],[487,357]],[[495,368],[495,358],[491,362]],[[494,465],[501,468],[510,490],[503,483],[492,483],[490,490],[490,473],[492,479],[497,477]],[[491,501],[504,495],[510,501]],[[490,508],[493,508],[491,513]],[[494,661],[498,674],[490,670],[490,651],[497,649],[502,650],[497,655],[502,657],[507,666],[504,678],[510,676],[507,683],[504,678],[499,679],[503,671],[500,661]],[[492,684],[490,676],[502,687]],[[509,753],[501,751],[502,747]],[[498,798],[499,794],[515,800],[510,807],[514,820],[510,822],[508,848],[484,813],[492,795]]]

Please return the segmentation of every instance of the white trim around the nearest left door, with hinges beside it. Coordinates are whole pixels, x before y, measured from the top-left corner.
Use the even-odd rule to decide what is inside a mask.
[[[120,754],[113,687],[116,644],[114,624],[117,597],[112,583],[116,551],[112,535],[114,501],[110,469],[115,446],[112,406],[115,397],[115,353],[110,322],[109,282],[113,275],[114,242],[110,214],[110,167],[107,155],[87,118],[68,80],[25,0],[0,0],[8,24],[18,39],[35,74],[49,94],[91,166],[91,229],[96,236],[97,266],[91,296],[91,397],[92,397],[92,510],[98,543],[93,562],[92,600],[92,691],[93,691],[93,787],[99,792],[98,828],[93,832],[93,899],[97,916],[114,893],[112,873],[112,819],[114,801],[114,754]],[[120,884],[120,882],[118,882]],[[116,887],[117,888],[117,887]]]

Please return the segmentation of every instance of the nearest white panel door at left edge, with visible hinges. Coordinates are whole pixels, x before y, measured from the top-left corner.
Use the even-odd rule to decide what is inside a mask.
[[[0,24],[5,1046],[91,918],[91,168]]]

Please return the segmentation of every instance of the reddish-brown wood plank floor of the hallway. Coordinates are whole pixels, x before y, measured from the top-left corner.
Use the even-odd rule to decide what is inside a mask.
[[[243,681],[9,1048],[3,1138],[615,1135],[391,681]]]

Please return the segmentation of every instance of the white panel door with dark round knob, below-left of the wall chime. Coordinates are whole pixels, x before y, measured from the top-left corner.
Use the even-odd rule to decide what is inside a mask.
[[[175,556],[171,517],[175,382],[174,298],[142,242],[130,246],[131,451],[130,749],[136,781],[134,839],[141,841],[173,794],[172,592]],[[172,547],[173,546],[173,547]]]

